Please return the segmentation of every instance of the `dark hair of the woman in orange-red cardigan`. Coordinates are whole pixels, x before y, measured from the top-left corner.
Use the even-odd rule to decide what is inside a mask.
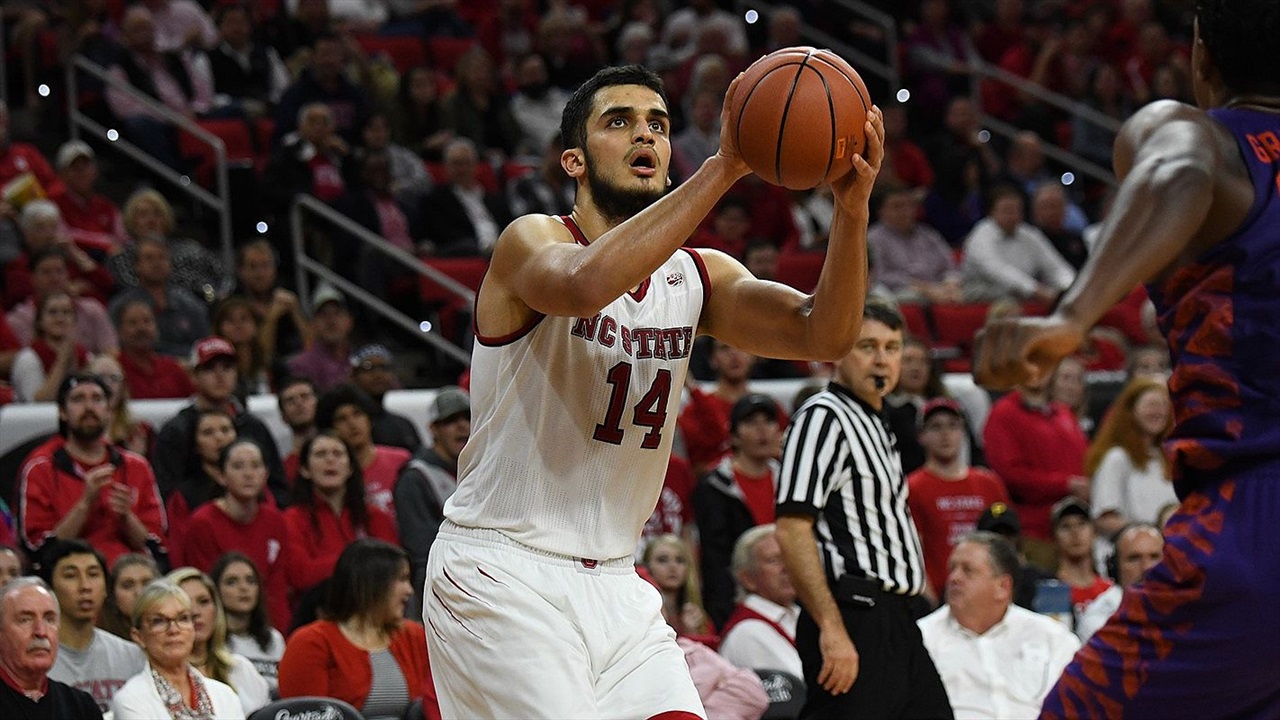
[[[408,553],[389,542],[361,538],[348,544],[333,568],[325,619],[333,623],[352,618],[376,620],[375,614],[387,607],[397,579],[408,568]]]

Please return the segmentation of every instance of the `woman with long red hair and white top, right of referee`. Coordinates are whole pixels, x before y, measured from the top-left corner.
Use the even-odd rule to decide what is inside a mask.
[[[1161,443],[1174,427],[1169,388],[1160,379],[1132,380],[1111,404],[1089,451],[1084,473],[1092,475],[1092,512],[1102,536],[1125,523],[1155,523],[1160,509],[1176,502],[1169,459]]]

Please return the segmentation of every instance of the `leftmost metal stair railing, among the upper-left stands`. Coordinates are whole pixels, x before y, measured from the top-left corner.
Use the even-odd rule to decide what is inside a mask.
[[[111,88],[128,95],[129,99],[141,102],[151,113],[164,118],[180,131],[192,135],[200,142],[212,147],[215,159],[214,192],[201,187],[200,183],[195,182],[189,176],[184,176],[169,165],[165,165],[160,160],[156,160],[147,151],[129,142],[124,137],[124,133],[119,129],[105,127],[93,118],[82,113],[78,102],[79,85],[77,79],[77,70],[84,72]],[[221,225],[219,228],[219,238],[221,241],[223,263],[227,268],[236,266],[234,250],[232,247],[232,204],[230,182],[228,179],[227,168],[227,143],[223,142],[223,138],[206,131],[195,120],[177,113],[168,105],[133,87],[128,82],[111,77],[102,65],[99,65],[83,55],[76,55],[72,61],[67,64],[67,110],[68,123],[70,124],[70,136],[73,140],[79,140],[81,131],[84,131],[108,141],[120,152],[124,152],[133,160],[141,163],[178,190],[186,192],[191,197],[210,208],[212,211],[218,213],[219,224]]]

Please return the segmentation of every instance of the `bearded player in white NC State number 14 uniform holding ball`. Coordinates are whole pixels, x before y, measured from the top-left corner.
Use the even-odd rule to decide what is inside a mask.
[[[727,131],[667,193],[658,77],[607,68],[573,94],[561,124],[573,211],[507,227],[476,300],[472,433],[424,593],[444,716],[703,716],[632,552],[662,489],[695,334],[771,357],[831,360],[854,342],[878,109],[865,132],[867,159],[835,183],[831,245],[806,296],[681,249],[749,172]]]

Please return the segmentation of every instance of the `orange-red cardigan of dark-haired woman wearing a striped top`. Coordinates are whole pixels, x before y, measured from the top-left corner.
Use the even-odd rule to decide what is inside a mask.
[[[428,720],[439,720],[440,703],[431,682],[431,661],[426,655],[422,625],[404,621],[392,634],[389,650],[404,674],[410,701],[421,698]],[[335,697],[356,710],[364,710],[374,684],[369,651],[352,644],[338,624],[328,620],[303,625],[289,635],[279,671],[280,697]]]

